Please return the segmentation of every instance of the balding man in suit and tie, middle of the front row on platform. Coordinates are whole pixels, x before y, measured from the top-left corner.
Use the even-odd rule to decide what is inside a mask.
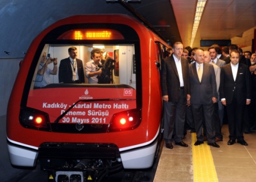
[[[189,65],[191,83],[191,108],[196,127],[197,141],[194,145],[203,143],[202,119],[204,117],[208,145],[219,148],[215,142],[213,121],[214,103],[217,102],[217,85],[213,65],[204,63],[202,49],[195,50],[196,63]]]

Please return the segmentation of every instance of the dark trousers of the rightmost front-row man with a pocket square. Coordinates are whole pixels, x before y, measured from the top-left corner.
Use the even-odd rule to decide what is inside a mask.
[[[230,104],[226,105],[228,119],[228,130],[230,139],[243,139],[243,115],[245,104],[239,104],[234,98]]]

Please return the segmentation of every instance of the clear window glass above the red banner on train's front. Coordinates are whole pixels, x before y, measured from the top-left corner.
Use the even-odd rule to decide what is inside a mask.
[[[89,84],[89,77],[86,74],[85,66],[92,61],[91,51],[98,49],[101,51],[101,60],[98,66],[95,67],[96,72],[101,70],[101,74],[96,75],[95,82],[97,84],[125,84],[136,89],[136,64],[135,64],[135,49],[134,45],[44,45],[42,52],[37,59],[37,64],[33,74],[30,89],[42,89],[50,87],[60,87],[65,84],[59,80],[60,78],[60,62],[67,59],[69,56],[68,49],[70,47],[77,48],[76,59],[82,60],[83,69],[78,69],[77,72],[72,71],[72,74],[77,73],[77,76],[83,75],[84,78],[79,78],[82,84]],[[64,61],[63,61],[64,62]],[[67,68],[74,68],[70,62],[65,65]],[[78,73],[83,70],[83,74]],[[69,74],[68,70],[65,74]],[[77,86],[77,85],[74,85]]]

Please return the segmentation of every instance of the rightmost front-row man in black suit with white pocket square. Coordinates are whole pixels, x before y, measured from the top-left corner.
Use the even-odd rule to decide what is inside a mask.
[[[232,50],[231,63],[220,71],[220,98],[227,111],[228,145],[233,145],[236,139],[238,143],[248,145],[243,136],[243,114],[245,105],[250,104],[251,80],[249,68],[239,63],[239,57],[238,50]]]

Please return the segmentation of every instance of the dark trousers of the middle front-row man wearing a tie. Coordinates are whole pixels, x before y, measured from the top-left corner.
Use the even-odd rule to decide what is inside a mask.
[[[195,121],[197,140],[203,142],[202,125],[204,118],[207,141],[208,143],[215,142],[215,127],[213,122],[214,104],[192,104],[191,107]]]

